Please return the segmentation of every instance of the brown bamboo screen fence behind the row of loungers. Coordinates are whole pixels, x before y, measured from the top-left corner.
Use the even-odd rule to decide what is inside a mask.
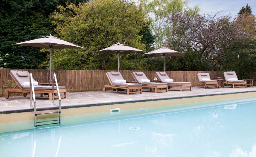
[[[50,82],[50,71],[41,69],[0,69],[0,95],[4,95],[7,88],[13,88],[16,83],[11,78],[10,70],[27,70],[33,74],[33,78],[38,83]],[[109,84],[106,72],[111,70],[53,70],[56,73],[59,85],[65,86],[69,92],[102,90],[105,84]],[[113,70],[112,70],[113,71]],[[132,70],[121,70],[123,78],[126,81],[133,80]],[[156,71],[140,71],[153,80]],[[192,86],[198,83],[198,73],[209,73],[211,79],[214,77],[223,77],[223,72],[219,71],[166,71],[167,75],[177,82],[191,82]]]

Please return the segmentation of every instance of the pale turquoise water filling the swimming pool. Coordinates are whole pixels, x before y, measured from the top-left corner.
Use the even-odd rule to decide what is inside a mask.
[[[0,133],[0,156],[255,157],[256,100],[228,102]]]

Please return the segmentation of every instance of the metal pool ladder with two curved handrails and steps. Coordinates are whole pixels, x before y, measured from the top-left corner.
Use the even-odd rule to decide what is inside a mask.
[[[54,96],[55,96],[54,81],[56,83],[57,94],[58,94],[58,98],[59,98],[59,105],[56,105],[54,103]],[[61,124],[61,98],[60,98],[60,91],[59,91],[59,86],[58,86],[56,74],[53,73],[53,77],[52,77],[52,105],[58,106],[58,109],[57,109],[58,111],[56,111],[56,109],[53,112],[49,112],[49,110],[43,110],[43,111],[40,111],[40,113],[38,113],[38,111],[36,111],[35,90],[34,90],[32,73],[30,73],[29,82],[30,82],[30,107],[32,107],[32,104],[33,104],[33,107],[34,107],[34,127],[44,126],[44,125],[51,125],[51,124]],[[33,96],[33,100],[32,100],[32,96]],[[36,119],[36,116],[39,116],[39,115],[56,114],[56,113],[58,113],[58,119],[57,120],[38,121]]]

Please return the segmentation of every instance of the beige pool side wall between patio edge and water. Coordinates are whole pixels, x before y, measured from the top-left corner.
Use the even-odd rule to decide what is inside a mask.
[[[221,103],[223,100],[232,99],[233,101],[238,98],[239,101],[240,98],[244,97],[248,97],[248,99],[253,99],[255,95],[256,92],[246,92],[237,94],[199,96],[181,99],[167,99],[155,101],[151,100],[112,105],[67,108],[62,110],[62,125],[133,116],[138,114],[155,112],[156,110],[184,110],[189,108],[212,106]],[[111,109],[117,108],[120,108],[120,114],[110,114]],[[147,110],[139,111],[140,109]],[[31,129],[34,125],[33,118],[33,112],[0,114],[0,133]],[[43,118],[51,117],[42,116],[42,119]]]

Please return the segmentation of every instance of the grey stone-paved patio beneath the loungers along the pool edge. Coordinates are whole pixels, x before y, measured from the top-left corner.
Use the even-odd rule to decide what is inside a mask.
[[[148,89],[143,89],[142,94],[130,94],[127,95],[123,91],[115,92],[107,90],[105,93],[102,91],[87,91],[87,92],[68,92],[67,98],[62,99],[62,108],[74,108],[74,107],[89,107],[89,106],[100,106],[100,105],[111,105],[129,102],[141,102],[141,101],[154,101],[154,100],[168,100],[198,96],[210,96],[210,95],[225,95],[234,93],[244,92],[256,92],[256,88],[207,88],[193,87],[192,91],[179,91],[179,88],[172,88],[168,92],[155,93]],[[40,97],[40,94],[36,96],[36,106],[40,109],[49,109],[57,106],[52,106],[52,100],[49,100],[47,95]],[[5,113],[17,113],[33,111],[30,107],[29,95],[23,97],[10,96],[8,99],[0,97],[0,114]],[[55,104],[58,104],[58,100],[55,99]]]

